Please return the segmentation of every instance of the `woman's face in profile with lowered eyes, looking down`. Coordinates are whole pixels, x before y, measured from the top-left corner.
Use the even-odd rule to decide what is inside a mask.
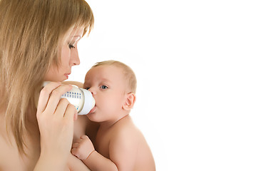
[[[83,28],[73,29],[61,47],[61,62],[59,66],[57,67],[56,64],[52,63],[44,77],[44,81],[65,81],[68,79],[72,66],[80,64],[77,43],[82,36]]]

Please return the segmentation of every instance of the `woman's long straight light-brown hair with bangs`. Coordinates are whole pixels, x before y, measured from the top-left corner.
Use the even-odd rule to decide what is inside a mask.
[[[0,108],[6,111],[6,130],[26,154],[27,113],[36,113],[43,77],[52,63],[58,66],[73,28],[90,33],[93,12],[83,0],[0,0],[0,21]]]

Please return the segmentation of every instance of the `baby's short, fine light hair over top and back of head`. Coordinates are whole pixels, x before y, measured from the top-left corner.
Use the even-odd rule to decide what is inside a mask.
[[[128,81],[128,88],[129,88],[128,93],[136,93],[137,79],[136,79],[135,73],[129,66],[127,66],[125,63],[122,63],[120,61],[109,60],[109,61],[101,61],[101,62],[95,63],[91,68],[96,68],[97,66],[103,66],[103,65],[117,66],[119,68],[122,68],[123,75],[126,77],[126,80]]]

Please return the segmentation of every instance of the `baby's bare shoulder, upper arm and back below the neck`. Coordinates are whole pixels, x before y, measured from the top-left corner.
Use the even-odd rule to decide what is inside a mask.
[[[109,152],[120,170],[155,170],[150,148],[140,130],[126,116],[113,125]]]

